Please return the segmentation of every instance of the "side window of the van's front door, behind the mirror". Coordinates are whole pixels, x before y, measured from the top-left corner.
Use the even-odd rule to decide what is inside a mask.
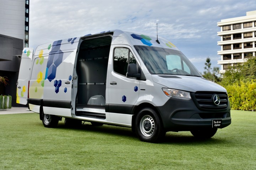
[[[132,52],[127,48],[114,49],[114,72],[126,76],[128,64],[135,63],[136,60]]]

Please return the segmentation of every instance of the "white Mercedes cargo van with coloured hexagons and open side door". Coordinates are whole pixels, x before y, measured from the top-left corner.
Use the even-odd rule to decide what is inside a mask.
[[[146,142],[167,131],[208,138],[231,124],[226,90],[204,79],[174,44],[122,30],[25,48],[17,103],[48,128],[64,117],[67,125],[130,127]]]

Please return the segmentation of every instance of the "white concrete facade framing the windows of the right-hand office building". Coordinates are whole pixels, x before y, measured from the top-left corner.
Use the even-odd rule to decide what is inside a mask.
[[[251,28],[244,28],[243,23],[252,22]],[[240,24],[241,23],[241,29],[235,29],[233,30],[234,24]],[[218,61],[218,64],[221,65],[220,73],[224,73],[225,70],[223,68],[223,64],[230,64],[231,66],[234,65],[234,63],[242,63],[247,60],[244,58],[244,54],[246,52],[252,52],[253,56],[255,56],[256,51],[256,11],[249,11],[246,12],[246,16],[243,17],[236,17],[236,18],[229,18],[229,19],[222,19],[221,22],[217,23],[217,26],[220,27],[220,32],[217,33],[218,36],[220,36],[220,41],[218,41],[218,45],[221,46],[220,51],[218,51],[218,55],[221,56],[221,60]],[[223,31],[223,26],[231,25],[231,30]],[[252,32],[252,38],[244,38],[244,33]],[[234,39],[233,35],[241,33],[241,39]],[[230,40],[223,41],[223,35],[231,35]],[[244,48],[244,44],[246,42],[252,42],[252,48]],[[223,45],[231,44],[231,50],[223,50]],[[241,49],[233,49],[233,44],[241,44]],[[241,53],[242,58],[241,59],[234,59],[234,53]],[[223,55],[230,54],[231,60],[223,60]]]

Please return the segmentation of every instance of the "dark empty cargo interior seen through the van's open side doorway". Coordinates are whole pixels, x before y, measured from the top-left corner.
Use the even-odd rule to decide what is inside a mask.
[[[111,36],[103,36],[81,42],[76,64],[78,75],[76,108],[105,109],[111,40]]]

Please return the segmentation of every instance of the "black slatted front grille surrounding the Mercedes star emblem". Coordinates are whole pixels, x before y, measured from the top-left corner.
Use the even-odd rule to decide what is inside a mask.
[[[214,104],[213,96],[218,95],[220,103]],[[228,107],[228,95],[225,92],[197,91],[192,95],[199,109],[224,110]]]

